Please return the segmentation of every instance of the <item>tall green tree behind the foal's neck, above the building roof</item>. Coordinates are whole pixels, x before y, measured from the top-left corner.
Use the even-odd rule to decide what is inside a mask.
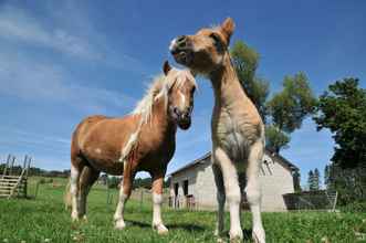
[[[241,86],[253,102],[266,125],[266,147],[280,152],[287,148],[290,134],[299,129],[312,112],[315,98],[304,73],[285,76],[283,91],[268,101],[270,85],[258,77],[260,54],[244,42],[238,41],[231,49],[231,59]]]

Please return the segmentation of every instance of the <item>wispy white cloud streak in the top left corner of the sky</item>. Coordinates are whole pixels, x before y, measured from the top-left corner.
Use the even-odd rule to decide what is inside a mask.
[[[52,50],[56,54],[114,68],[139,73],[146,70],[138,60],[118,51],[121,46],[111,45],[108,38],[94,29],[87,13],[74,1],[48,2],[45,6],[46,22],[11,2],[3,4],[0,9],[0,40],[27,49]]]

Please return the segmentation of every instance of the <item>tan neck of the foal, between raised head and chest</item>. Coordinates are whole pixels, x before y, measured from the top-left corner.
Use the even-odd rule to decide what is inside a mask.
[[[223,66],[210,75],[215,91],[216,106],[231,106],[238,101],[248,99],[242,89],[236,70],[233,68],[229,53],[223,57]]]

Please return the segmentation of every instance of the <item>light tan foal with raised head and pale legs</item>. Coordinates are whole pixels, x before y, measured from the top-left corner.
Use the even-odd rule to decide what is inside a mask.
[[[172,40],[170,52],[175,60],[194,73],[211,80],[215,91],[212,115],[212,169],[218,188],[218,228],[223,230],[224,202],[230,207],[230,239],[243,237],[240,225],[242,183],[239,173],[247,172],[247,199],[253,214],[252,236],[255,242],[265,242],[261,220],[261,191],[259,170],[264,149],[262,119],[242,89],[232,66],[228,46],[234,30],[232,19],[220,27],[201,29],[194,35]]]

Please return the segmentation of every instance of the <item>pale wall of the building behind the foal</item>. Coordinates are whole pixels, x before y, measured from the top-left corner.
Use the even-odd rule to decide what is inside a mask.
[[[273,162],[269,156],[263,158],[260,180],[262,187],[262,211],[284,211],[286,210],[282,194],[294,192],[293,177],[289,169],[281,163]],[[184,180],[188,179],[188,193],[194,194],[198,209],[217,209],[215,177],[210,166],[210,158],[205,162],[195,165],[171,177],[170,197],[174,198],[174,184],[179,183],[178,198],[180,207],[186,201],[184,197]]]

